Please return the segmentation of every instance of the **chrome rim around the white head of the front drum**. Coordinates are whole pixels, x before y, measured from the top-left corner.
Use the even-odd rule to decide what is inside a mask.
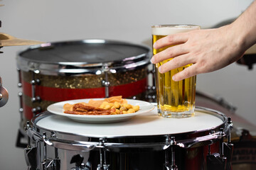
[[[217,128],[221,128],[221,127],[224,127],[225,124],[228,123],[228,118],[225,116],[224,113],[221,113],[220,111],[216,111],[214,109],[211,109],[211,108],[204,108],[204,107],[201,107],[201,106],[196,106],[195,108],[195,111],[208,111],[208,113],[212,114],[212,115],[217,115],[218,118],[220,118],[221,120],[223,120],[223,123],[221,123],[220,125],[217,125],[215,127],[212,127],[212,128],[209,128],[209,129],[205,129],[205,130],[195,130],[195,131],[191,131],[191,132],[183,132],[183,133],[178,133],[178,134],[164,134],[164,135],[141,135],[141,136],[117,136],[117,137],[105,137],[105,136],[98,136],[98,135],[90,135],[90,136],[85,136],[85,135],[78,135],[78,134],[75,134],[75,133],[70,133],[70,132],[59,132],[59,131],[56,131],[56,130],[49,130],[47,128],[43,128],[39,125],[36,125],[36,123],[41,120],[42,118],[46,118],[46,116],[49,116],[49,115],[53,115],[53,113],[49,113],[48,111],[46,112],[43,112],[43,113],[39,113],[38,115],[36,115],[34,118],[31,119],[31,123],[33,125],[33,128],[36,128],[36,130],[43,130],[43,131],[46,131],[46,132],[58,132],[59,135],[75,135],[75,136],[78,136],[78,137],[89,137],[89,138],[112,138],[112,139],[119,139],[119,138],[136,138],[136,137],[166,137],[166,135],[173,135],[173,136],[176,136],[176,135],[192,135],[192,134],[196,134],[196,133],[201,133],[201,132],[208,132],[210,130],[215,130]]]

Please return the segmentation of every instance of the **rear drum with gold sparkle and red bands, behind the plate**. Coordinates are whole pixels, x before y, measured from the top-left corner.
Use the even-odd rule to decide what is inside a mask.
[[[112,40],[35,45],[17,57],[23,125],[58,101],[144,98],[149,48]]]

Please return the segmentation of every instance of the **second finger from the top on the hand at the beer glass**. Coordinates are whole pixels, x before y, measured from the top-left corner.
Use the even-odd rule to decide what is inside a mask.
[[[151,58],[151,63],[156,64],[158,62],[162,62],[176,56],[184,55],[186,53],[188,53],[188,50],[185,45],[175,45],[154,55]]]

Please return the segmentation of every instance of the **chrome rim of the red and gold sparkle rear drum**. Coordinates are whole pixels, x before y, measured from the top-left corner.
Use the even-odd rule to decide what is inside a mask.
[[[87,63],[87,62],[39,62],[33,59],[27,59],[21,57],[26,52],[35,50],[43,47],[50,47],[52,45],[65,45],[65,44],[86,44],[86,43],[114,43],[117,45],[129,45],[144,48],[147,52],[142,53],[141,55],[127,57],[127,59],[139,60],[137,62],[132,62],[129,64],[118,65],[119,62],[98,62],[98,63]],[[32,45],[28,47],[27,50],[18,53],[16,57],[17,67],[22,71],[34,71],[41,72],[42,74],[96,74],[99,69],[102,67],[110,67],[110,69],[115,69],[113,72],[124,72],[131,69],[137,69],[139,67],[145,67],[150,64],[151,50],[145,45],[138,45],[132,42],[122,42],[118,40],[105,40],[105,39],[84,39],[84,40],[70,40],[70,41],[59,41],[59,42],[47,42],[41,45]],[[122,61],[122,60],[121,60]],[[115,66],[115,64],[117,66]],[[56,67],[58,66],[58,67]],[[74,68],[72,68],[74,67]],[[111,71],[111,70],[110,70]]]

